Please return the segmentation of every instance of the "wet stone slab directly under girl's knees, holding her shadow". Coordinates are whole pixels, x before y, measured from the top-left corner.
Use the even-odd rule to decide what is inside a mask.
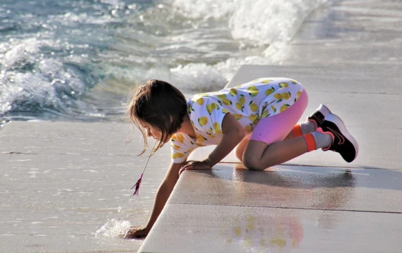
[[[394,170],[278,165],[257,172],[220,164],[212,172],[186,172],[168,203],[402,214],[395,201],[401,182],[402,172]]]

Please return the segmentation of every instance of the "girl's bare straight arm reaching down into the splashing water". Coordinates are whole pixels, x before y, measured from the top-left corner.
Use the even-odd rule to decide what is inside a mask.
[[[173,191],[173,188],[176,185],[176,182],[179,178],[180,167],[183,166],[185,163],[186,162],[178,164],[170,163],[165,178],[163,179],[162,183],[158,188],[158,191],[156,192],[154,206],[152,208],[151,216],[149,217],[147,225],[141,229],[135,227],[128,228],[125,237],[128,238],[144,237],[149,233],[156,219],[161,213],[163,207],[165,206],[166,201],[170,196],[170,193]]]

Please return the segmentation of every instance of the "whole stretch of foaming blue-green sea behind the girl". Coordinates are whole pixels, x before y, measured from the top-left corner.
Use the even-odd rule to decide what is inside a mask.
[[[191,94],[268,64],[325,0],[4,0],[0,124],[123,120],[151,78]]]

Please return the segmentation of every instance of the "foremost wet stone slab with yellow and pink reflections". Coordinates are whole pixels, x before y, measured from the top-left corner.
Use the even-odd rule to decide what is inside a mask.
[[[170,218],[151,231],[140,252],[400,252],[400,214],[197,204],[166,207],[163,215]]]

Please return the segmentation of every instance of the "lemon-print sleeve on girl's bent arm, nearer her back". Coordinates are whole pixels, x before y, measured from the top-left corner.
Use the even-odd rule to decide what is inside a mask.
[[[211,97],[195,98],[191,106],[191,120],[201,131],[222,134],[222,121],[228,110],[222,107],[219,100]]]

